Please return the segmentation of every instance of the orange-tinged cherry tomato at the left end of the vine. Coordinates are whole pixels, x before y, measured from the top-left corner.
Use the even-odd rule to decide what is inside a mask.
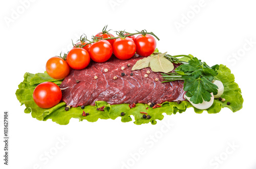
[[[46,72],[54,79],[63,79],[69,75],[70,67],[59,57],[52,57],[46,63]]]

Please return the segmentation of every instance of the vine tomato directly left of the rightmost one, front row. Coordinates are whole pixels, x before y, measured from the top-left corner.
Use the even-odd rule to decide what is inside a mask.
[[[118,38],[113,43],[113,52],[120,60],[130,59],[136,52],[136,45],[131,38]]]

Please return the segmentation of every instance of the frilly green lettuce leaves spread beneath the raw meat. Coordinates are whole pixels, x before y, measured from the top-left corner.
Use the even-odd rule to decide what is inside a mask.
[[[227,107],[233,112],[240,110],[243,107],[243,98],[241,95],[241,89],[238,84],[234,82],[234,75],[231,74],[230,70],[224,66],[220,65],[218,70],[217,78],[222,81],[224,85],[224,93],[222,98],[226,99],[226,102],[229,101],[230,105],[227,105],[226,102],[221,102],[218,99],[214,100],[214,104],[206,109],[209,114],[215,114],[220,112],[221,108]],[[48,109],[38,107],[33,101],[33,91],[35,87],[45,81],[52,81],[57,85],[60,85],[60,80],[55,80],[51,78],[47,73],[25,73],[24,81],[21,82],[16,91],[16,96],[21,105],[25,104],[26,108],[25,113],[31,113],[33,118],[36,118],[40,121],[46,121],[51,119],[53,122],[56,122],[60,125],[67,125],[71,118],[79,119],[79,121],[87,120],[88,122],[96,122],[98,119],[112,119],[115,120],[118,117],[121,117],[121,122],[130,122],[132,121],[131,116],[134,116],[134,123],[137,125],[149,123],[156,124],[156,120],[162,120],[164,118],[163,113],[166,115],[176,114],[177,112],[184,112],[187,108],[193,107],[188,101],[182,101],[180,104],[177,102],[164,102],[162,107],[151,108],[147,104],[136,104],[136,107],[131,108],[129,104],[116,104],[110,105],[104,101],[97,101],[95,106],[85,106],[84,109],[80,107],[73,108],[71,107],[69,111],[65,110],[65,102],[60,102],[56,106]],[[98,107],[104,107],[104,111],[96,110]],[[148,107],[148,109],[146,109]],[[201,114],[204,110],[197,109],[193,107],[195,112]],[[82,112],[89,112],[89,116],[82,116]],[[146,112],[151,116],[151,119],[143,119],[140,111]],[[124,116],[121,116],[120,113],[125,112]]]

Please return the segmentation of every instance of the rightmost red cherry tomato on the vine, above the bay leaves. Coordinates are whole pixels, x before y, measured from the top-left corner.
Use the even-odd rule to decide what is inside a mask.
[[[134,42],[137,47],[136,53],[138,53],[142,57],[147,57],[151,55],[155,51],[157,46],[155,38],[148,34],[146,34],[145,36],[137,36]]]

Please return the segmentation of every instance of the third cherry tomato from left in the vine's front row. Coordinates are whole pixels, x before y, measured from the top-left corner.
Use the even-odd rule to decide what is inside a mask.
[[[102,63],[111,58],[113,48],[106,40],[99,40],[92,44],[89,49],[90,57],[94,62]]]

